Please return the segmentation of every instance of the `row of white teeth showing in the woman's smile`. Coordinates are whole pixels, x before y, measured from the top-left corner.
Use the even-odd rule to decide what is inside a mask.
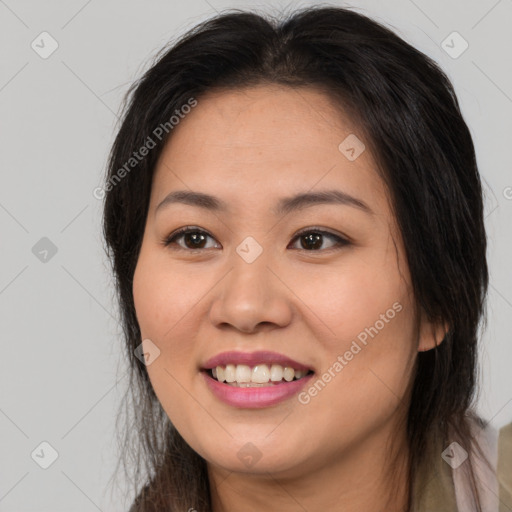
[[[270,368],[267,364],[258,364],[253,368],[246,364],[228,364],[212,368],[214,379],[239,387],[258,387],[269,382],[281,382],[283,379],[291,382],[294,378],[301,379],[307,373],[306,370],[294,370],[290,366],[283,367],[280,364],[272,364]]]

